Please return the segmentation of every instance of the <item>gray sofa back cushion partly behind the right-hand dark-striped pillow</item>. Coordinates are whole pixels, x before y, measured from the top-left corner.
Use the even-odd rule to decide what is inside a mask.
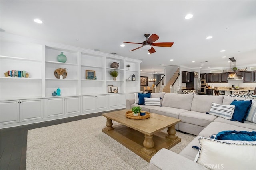
[[[222,101],[223,95],[208,96],[194,94],[194,98],[191,105],[191,111],[202,113],[210,112],[212,103],[222,104]]]

